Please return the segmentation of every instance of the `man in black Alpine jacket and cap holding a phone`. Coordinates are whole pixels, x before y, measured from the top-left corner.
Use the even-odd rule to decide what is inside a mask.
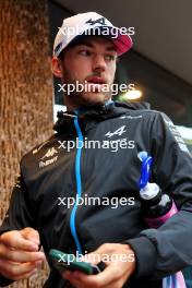
[[[83,27],[81,36],[69,33],[76,25]],[[63,87],[67,84],[68,111],[59,113],[57,133],[22,158],[21,177],[1,227],[0,285],[33,275],[44,261],[41,244],[46,256],[50,249],[59,249],[88,253],[93,264],[107,257],[98,275],[69,271],[61,275],[51,268],[45,287],[161,287],[161,278],[192,264],[190,154],[166,116],[111,101],[117,57],[132,45],[128,35],[116,28],[118,37],[112,38],[112,24],[93,12],[64,20],[61,28],[52,72]],[[71,93],[70,84],[84,88]],[[101,146],[85,146],[93,141]],[[152,181],[180,209],[159,229],[147,228],[141,213],[137,154],[142,151],[154,159]],[[101,204],[85,203],[94,197]],[[75,201],[67,205],[71,199]]]

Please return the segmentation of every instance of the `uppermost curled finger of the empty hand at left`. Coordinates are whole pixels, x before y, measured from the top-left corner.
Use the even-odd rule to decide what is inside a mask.
[[[26,240],[20,231],[10,231],[1,235],[0,242],[17,250],[38,251],[38,245]]]

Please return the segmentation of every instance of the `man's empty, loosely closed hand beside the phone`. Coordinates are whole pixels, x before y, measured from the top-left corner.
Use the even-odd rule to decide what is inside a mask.
[[[13,230],[0,236],[0,274],[19,280],[32,276],[45,259],[38,252],[39,235],[33,228]]]

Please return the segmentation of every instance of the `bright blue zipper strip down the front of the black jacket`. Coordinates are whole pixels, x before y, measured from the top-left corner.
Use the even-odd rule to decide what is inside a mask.
[[[83,143],[83,134],[82,134],[82,131],[81,131],[81,128],[77,121],[77,117],[74,118],[74,127],[76,130],[77,140],[81,141],[81,143]],[[81,177],[82,146],[83,145],[81,145],[80,147],[76,147],[76,156],[75,156],[76,201],[82,195],[82,177]],[[71,229],[71,233],[72,233],[72,237],[76,245],[76,251],[79,254],[82,255],[83,249],[82,249],[82,245],[80,243],[80,239],[76,232],[76,209],[77,209],[77,203],[75,202],[72,213],[71,213],[71,217],[70,217],[70,229]]]

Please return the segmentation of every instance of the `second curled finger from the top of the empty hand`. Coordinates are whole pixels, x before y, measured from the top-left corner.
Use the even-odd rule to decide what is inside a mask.
[[[14,262],[34,262],[44,261],[43,252],[25,252],[21,250],[11,250],[10,248],[0,244],[0,257]]]

